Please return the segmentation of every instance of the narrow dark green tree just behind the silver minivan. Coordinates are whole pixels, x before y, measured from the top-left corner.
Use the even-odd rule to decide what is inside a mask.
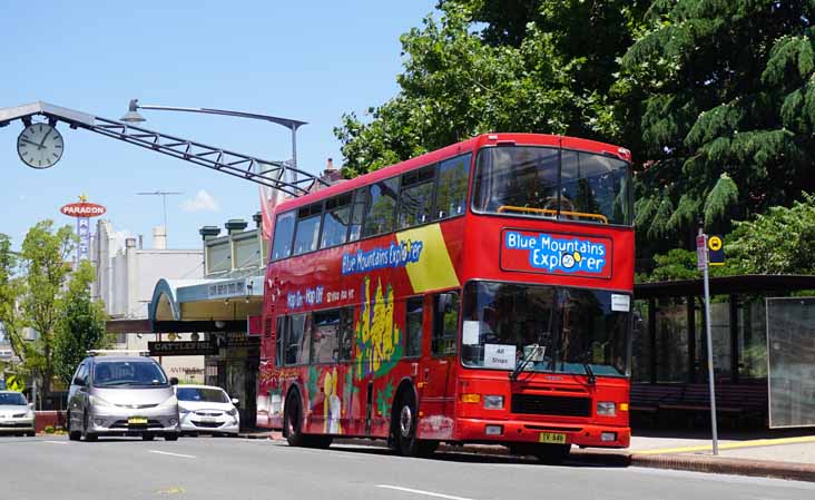
[[[70,277],[63,295],[63,311],[56,329],[53,366],[56,375],[69,385],[71,376],[90,349],[107,347],[105,306],[90,296],[94,266],[84,261]]]

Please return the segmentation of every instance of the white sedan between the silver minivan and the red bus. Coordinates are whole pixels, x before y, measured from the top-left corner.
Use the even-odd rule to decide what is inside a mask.
[[[178,413],[181,432],[237,434],[240,429],[238,400],[229,399],[220,388],[213,385],[178,385]]]

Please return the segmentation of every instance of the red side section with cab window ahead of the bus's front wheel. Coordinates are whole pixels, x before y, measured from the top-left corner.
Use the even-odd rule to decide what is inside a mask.
[[[451,439],[455,398],[455,353],[459,330],[459,293],[429,295],[424,332],[430,333],[430,355],[423,356],[416,376],[422,439]]]

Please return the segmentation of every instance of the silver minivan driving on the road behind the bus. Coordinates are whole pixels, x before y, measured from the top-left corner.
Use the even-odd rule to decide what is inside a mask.
[[[95,441],[100,435],[180,435],[178,400],[167,375],[151,357],[89,356],[68,390],[68,437]]]

